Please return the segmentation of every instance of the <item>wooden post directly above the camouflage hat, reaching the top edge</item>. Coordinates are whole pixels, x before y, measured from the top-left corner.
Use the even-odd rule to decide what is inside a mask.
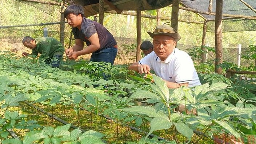
[[[180,0],[173,0],[171,27],[176,32],[178,32],[179,7],[180,7]]]

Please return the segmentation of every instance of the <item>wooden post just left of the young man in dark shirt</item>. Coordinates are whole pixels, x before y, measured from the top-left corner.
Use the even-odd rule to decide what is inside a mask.
[[[64,17],[64,10],[66,4],[61,3],[60,5],[60,43],[64,46],[64,38],[65,38],[65,17]]]

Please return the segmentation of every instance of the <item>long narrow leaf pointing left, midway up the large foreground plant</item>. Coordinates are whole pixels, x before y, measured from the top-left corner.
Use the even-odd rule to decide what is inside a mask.
[[[120,110],[126,111],[126,112],[136,112],[136,113],[140,113],[143,115],[147,115],[149,117],[162,117],[166,120],[169,120],[168,116],[166,116],[161,111],[156,111],[156,109],[154,109],[153,107],[134,106],[131,108],[123,108]]]

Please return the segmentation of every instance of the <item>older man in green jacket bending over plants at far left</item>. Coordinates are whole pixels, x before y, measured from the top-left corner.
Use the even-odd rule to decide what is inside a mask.
[[[52,67],[59,67],[60,60],[63,58],[65,51],[63,45],[53,37],[40,37],[33,39],[25,36],[22,40],[25,47],[32,49],[32,53],[23,52],[23,56],[37,56],[41,53],[39,61],[44,60],[45,63],[51,64]]]

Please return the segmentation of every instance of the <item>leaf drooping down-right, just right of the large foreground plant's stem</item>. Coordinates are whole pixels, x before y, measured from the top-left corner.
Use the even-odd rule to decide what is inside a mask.
[[[193,130],[190,129],[187,125],[185,125],[184,123],[173,123],[177,129],[177,131],[179,133],[181,133],[181,135],[184,135],[185,137],[187,137],[189,139],[189,141],[191,140],[191,137],[193,135]]]

